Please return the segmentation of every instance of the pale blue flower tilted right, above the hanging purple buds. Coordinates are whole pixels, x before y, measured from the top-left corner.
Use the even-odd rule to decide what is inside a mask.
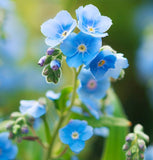
[[[55,47],[68,37],[76,25],[76,20],[67,11],[60,11],[55,18],[41,25],[41,32],[47,37],[46,44]]]

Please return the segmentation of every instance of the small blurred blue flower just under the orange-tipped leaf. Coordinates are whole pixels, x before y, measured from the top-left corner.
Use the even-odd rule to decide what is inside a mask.
[[[109,129],[107,127],[94,128],[94,134],[106,138],[109,135]]]

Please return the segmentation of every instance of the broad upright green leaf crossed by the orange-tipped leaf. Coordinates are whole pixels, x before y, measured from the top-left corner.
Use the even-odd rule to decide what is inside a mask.
[[[126,116],[123,112],[122,105],[112,89],[108,92],[108,98],[114,106],[114,116],[125,119]],[[121,121],[122,123],[122,121]],[[128,133],[127,127],[110,127],[109,137],[106,140],[103,156],[101,160],[125,160],[125,153],[122,146],[125,142],[125,137]]]

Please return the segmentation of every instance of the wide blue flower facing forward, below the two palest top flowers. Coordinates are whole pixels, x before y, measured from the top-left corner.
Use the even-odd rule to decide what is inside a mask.
[[[89,64],[98,54],[101,45],[101,38],[80,32],[79,34],[72,33],[63,41],[60,48],[63,54],[67,56],[67,64],[70,67],[77,68],[82,64]]]

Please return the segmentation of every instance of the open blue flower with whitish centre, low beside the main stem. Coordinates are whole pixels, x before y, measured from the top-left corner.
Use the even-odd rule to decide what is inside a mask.
[[[70,149],[79,153],[85,147],[85,141],[93,135],[93,128],[87,125],[86,121],[71,120],[64,128],[59,130],[59,136],[64,144]]]

